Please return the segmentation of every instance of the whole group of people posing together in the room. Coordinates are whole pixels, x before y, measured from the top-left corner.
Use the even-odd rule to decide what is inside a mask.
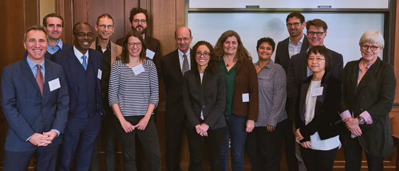
[[[1,76],[4,171],[25,171],[33,155],[38,171],[69,171],[72,162],[76,171],[98,171],[101,129],[107,171],[116,170],[117,139],[124,170],[137,170],[136,136],[145,169],[160,171],[159,80],[167,94],[167,171],[180,170],[184,130],[189,171],[202,171],[205,146],[211,171],[227,171],[229,154],[232,171],[243,171],[244,150],[253,171],[279,171],[283,144],[289,171],[332,171],[341,146],[347,171],[360,171],[363,150],[369,171],[382,171],[384,156],[393,155],[396,77],[378,56],[379,31],[362,35],[362,57],[344,68],[343,56],[324,46],[327,23],[305,22],[299,12],[287,16],[290,36],[277,47],[269,37],[257,41],[255,63],[237,32],[191,48],[187,27],[162,57],[159,40],[145,35],[147,10],[132,8],[129,19],[132,30],[116,44],[107,13],[97,18],[96,39],[90,24],[76,23],[73,46],[60,39],[59,14],[27,29],[24,57]]]

